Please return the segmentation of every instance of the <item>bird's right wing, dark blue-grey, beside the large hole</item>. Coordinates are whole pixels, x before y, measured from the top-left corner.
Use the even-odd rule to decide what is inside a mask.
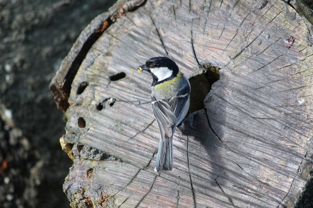
[[[179,118],[181,117],[181,114],[184,111],[185,104],[189,99],[189,93],[190,93],[190,86],[187,80],[185,80],[183,86],[181,87],[177,95],[175,97],[172,97],[169,100],[170,106],[172,107],[172,109],[174,109],[174,115],[176,116],[177,121],[181,120]],[[186,115],[183,115],[183,116],[186,116]]]

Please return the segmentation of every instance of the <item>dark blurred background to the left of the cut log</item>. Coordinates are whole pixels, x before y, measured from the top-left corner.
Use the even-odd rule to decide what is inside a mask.
[[[70,207],[63,113],[49,83],[115,0],[0,0],[0,207]]]

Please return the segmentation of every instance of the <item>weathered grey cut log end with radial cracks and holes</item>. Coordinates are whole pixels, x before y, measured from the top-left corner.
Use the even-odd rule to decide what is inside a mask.
[[[118,1],[96,17],[50,84],[71,206],[292,207],[313,138],[311,25],[292,3]],[[195,107],[161,173],[152,78],[136,69],[156,56],[193,80]]]

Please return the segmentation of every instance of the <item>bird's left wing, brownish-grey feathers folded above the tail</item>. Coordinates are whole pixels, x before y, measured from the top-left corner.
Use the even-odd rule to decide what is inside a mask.
[[[156,98],[152,96],[151,101],[154,116],[156,117],[161,131],[162,140],[165,140],[172,136],[172,126],[174,126],[177,120],[174,110],[167,99],[156,100]]]

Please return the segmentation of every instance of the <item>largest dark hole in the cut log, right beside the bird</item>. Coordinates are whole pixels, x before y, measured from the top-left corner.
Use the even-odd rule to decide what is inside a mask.
[[[203,69],[202,74],[189,78],[191,92],[188,114],[204,109],[205,97],[210,92],[212,84],[219,80],[219,68],[204,65]]]

